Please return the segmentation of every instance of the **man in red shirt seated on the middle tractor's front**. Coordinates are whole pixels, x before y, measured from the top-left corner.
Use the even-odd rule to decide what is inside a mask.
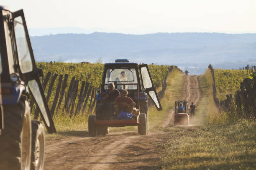
[[[136,105],[131,97],[127,96],[127,90],[120,90],[120,96],[116,97],[113,104],[115,105],[115,113],[118,115],[121,110],[131,113]]]

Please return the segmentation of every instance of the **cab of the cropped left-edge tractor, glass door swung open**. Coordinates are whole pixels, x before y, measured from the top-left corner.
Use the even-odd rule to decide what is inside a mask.
[[[55,132],[54,123],[39,80],[43,72],[36,68],[23,10],[10,12],[7,7],[0,6],[0,37],[3,105],[15,104],[21,96],[28,97],[29,88],[41,111],[46,129],[49,133]]]

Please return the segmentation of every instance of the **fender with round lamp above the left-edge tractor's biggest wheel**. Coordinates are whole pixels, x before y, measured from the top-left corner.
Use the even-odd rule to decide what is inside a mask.
[[[18,83],[1,83],[3,105],[16,104],[26,86]]]

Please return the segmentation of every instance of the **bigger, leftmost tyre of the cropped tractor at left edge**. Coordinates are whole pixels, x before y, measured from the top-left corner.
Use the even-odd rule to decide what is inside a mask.
[[[31,118],[27,101],[3,105],[5,128],[0,135],[0,169],[29,170],[31,163]]]

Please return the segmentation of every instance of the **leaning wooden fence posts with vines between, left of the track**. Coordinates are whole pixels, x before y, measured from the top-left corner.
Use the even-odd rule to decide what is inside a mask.
[[[166,89],[166,78],[174,66],[168,67],[162,82],[162,90],[158,92],[159,97],[163,97]],[[57,78],[59,79],[57,80]],[[47,72],[42,78],[42,86],[45,90],[46,100],[51,108],[51,115],[59,112],[69,115],[90,115],[95,108],[97,83],[91,83],[84,80],[77,80],[77,77],[71,77],[69,74],[57,74]],[[79,77],[81,78],[81,77]],[[153,78],[154,79],[154,78]],[[46,93],[47,91],[47,93]],[[34,113],[34,119],[38,119],[39,110],[34,107],[34,101],[30,103]],[[149,102],[151,105],[151,102]]]

